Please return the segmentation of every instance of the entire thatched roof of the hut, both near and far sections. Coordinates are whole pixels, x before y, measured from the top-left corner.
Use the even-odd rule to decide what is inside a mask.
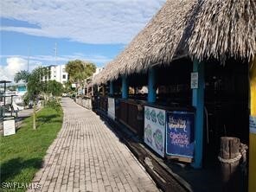
[[[255,0],[167,0],[94,83],[140,73],[175,57],[251,59],[256,53]]]

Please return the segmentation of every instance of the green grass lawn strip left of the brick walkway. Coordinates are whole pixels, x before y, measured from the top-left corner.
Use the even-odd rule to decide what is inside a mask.
[[[42,166],[46,150],[61,129],[62,111],[43,108],[37,112],[36,117],[37,130],[32,129],[32,117],[30,117],[23,121],[16,135],[0,138],[0,191],[3,190],[2,186],[6,182],[32,181],[36,171]]]

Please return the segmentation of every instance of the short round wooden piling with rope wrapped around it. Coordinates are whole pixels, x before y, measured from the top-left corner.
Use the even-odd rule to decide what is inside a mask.
[[[239,138],[221,138],[221,176],[222,176],[222,191],[235,192],[240,191],[240,139]]]

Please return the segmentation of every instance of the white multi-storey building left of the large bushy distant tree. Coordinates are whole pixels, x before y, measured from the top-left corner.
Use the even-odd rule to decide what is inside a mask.
[[[52,65],[47,67],[49,74],[42,77],[42,80],[56,80],[61,84],[67,83],[66,65]]]

